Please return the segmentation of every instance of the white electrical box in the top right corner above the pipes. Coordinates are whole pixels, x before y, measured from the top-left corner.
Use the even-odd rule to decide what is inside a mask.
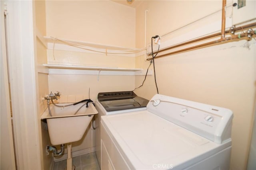
[[[256,19],[256,0],[233,0],[232,25]]]

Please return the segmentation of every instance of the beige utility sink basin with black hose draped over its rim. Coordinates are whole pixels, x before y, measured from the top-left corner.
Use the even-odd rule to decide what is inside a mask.
[[[58,104],[58,106],[68,104],[70,103]],[[48,108],[44,111],[41,119],[46,119],[47,121],[52,145],[71,143],[82,139],[92,117],[98,114],[94,105],[90,103],[88,107],[83,106],[76,115],[74,115],[83,104],[84,103],[80,103],[66,107],[57,107],[50,104],[52,116],[50,116]]]

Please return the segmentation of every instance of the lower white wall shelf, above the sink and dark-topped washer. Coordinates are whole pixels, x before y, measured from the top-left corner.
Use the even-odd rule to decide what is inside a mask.
[[[118,68],[99,66],[79,66],[63,64],[43,64],[48,67],[48,74],[83,74],[83,75],[145,75],[146,70],[142,68]],[[46,73],[46,72],[44,72]],[[148,70],[152,75],[152,70]]]

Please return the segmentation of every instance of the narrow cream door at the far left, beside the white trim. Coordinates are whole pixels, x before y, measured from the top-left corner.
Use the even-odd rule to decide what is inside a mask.
[[[6,53],[5,7],[0,1],[0,169],[16,170]]]

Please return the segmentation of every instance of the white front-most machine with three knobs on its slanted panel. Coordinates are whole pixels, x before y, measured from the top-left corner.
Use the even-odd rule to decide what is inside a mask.
[[[229,170],[232,111],[156,94],[101,117],[102,170]]]

